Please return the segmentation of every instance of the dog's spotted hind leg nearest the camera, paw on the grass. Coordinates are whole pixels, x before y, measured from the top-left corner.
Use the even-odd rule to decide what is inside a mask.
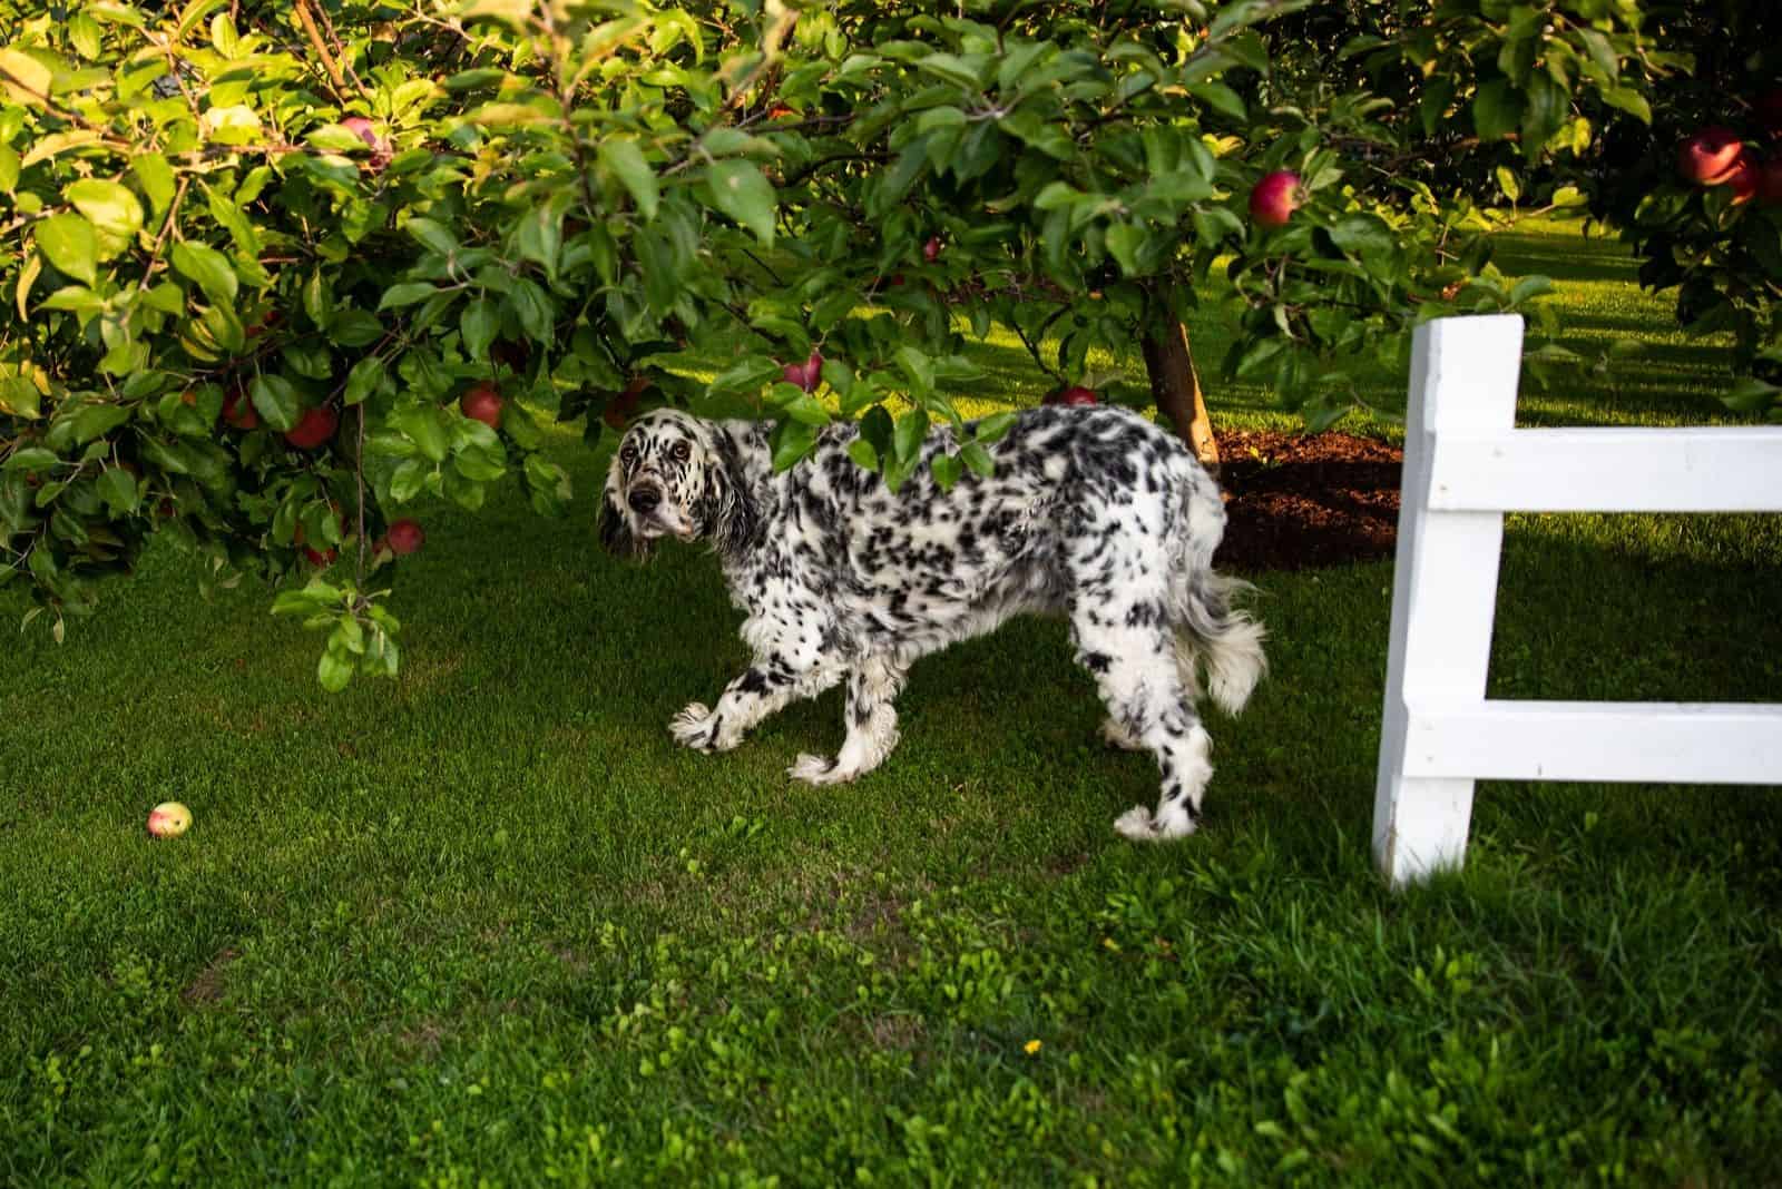
[[[1201,817],[1201,796],[1214,774],[1212,739],[1183,685],[1167,625],[1128,627],[1123,614],[1085,602],[1071,616],[1076,660],[1094,675],[1110,728],[1121,742],[1135,742],[1157,756],[1164,778],[1157,812],[1133,806],[1114,828],[1139,840],[1181,838],[1194,833]]]

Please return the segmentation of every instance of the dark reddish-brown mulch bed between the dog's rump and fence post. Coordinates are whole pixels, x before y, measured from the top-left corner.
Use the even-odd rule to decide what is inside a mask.
[[[1222,570],[1304,570],[1390,557],[1402,450],[1351,434],[1222,433]]]

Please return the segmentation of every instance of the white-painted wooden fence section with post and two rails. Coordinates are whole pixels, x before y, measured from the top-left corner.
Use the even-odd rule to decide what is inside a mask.
[[[1782,427],[1515,429],[1520,370],[1520,317],[1417,329],[1374,790],[1394,885],[1461,863],[1474,780],[1782,785],[1782,705],[1486,700],[1506,511],[1782,511]]]

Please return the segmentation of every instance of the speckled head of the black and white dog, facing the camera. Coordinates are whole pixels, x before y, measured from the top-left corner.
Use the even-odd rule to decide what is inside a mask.
[[[606,472],[601,539],[615,554],[643,554],[656,538],[729,536],[747,514],[734,447],[675,409],[654,409],[625,429]],[[720,541],[722,545],[722,541]]]

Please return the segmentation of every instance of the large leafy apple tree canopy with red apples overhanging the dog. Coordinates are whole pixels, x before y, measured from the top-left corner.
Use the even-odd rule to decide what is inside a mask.
[[[551,422],[747,411],[793,466],[859,418],[854,457],[896,488],[930,425],[964,425],[968,338],[1003,326],[1060,384],[1137,351],[1149,390],[1112,395],[1189,429],[1181,319],[1215,271],[1235,374],[1328,422],[1417,320],[1538,288],[1490,271],[1475,198],[1394,155],[1452,119],[1529,160],[1577,151],[1570,105],[1638,91],[1650,61],[1627,2],[1534,25],[1388,7],[1417,20],[1349,52],[1449,78],[1415,117],[1365,73],[1303,68],[1283,21],[1308,0],[16,18],[0,584],[61,639],[168,534],[208,580],[280,584],[340,689],[397,669],[385,584],[424,541],[403,506],[517,482],[560,513]],[[964,431],[936,481],[987,470],[1005,425]]]

